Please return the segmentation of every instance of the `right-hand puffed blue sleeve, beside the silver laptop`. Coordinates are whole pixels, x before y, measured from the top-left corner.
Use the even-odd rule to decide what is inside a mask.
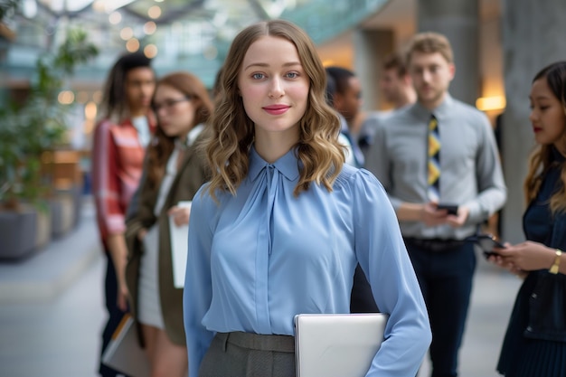
[[[431,341],[424,299],[382,184],[365,170],[354,178],[355,253],[375,303],[389,314],[386,340],[367,376],[414,376]]]

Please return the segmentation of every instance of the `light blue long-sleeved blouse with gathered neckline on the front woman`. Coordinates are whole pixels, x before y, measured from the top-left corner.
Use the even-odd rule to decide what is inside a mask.
[[[294,151],[274,164],[250,150],[236,195],[208,186],[193,198],[184,286],[189,376],[216,332],[293,335],[299,313],[349,313],[359,262],[390,319],[368,376],[415,375],[430,343],[429,318],[382,185],[344,165],[333,191],[298,197]]]

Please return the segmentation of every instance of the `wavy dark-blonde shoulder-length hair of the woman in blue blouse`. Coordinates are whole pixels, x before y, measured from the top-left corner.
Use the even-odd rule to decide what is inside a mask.
[[[307,191],[312,182],[324,184],[328,191],[344,164],[344,149],[338,144],[340,120],[325,101],[326,74],[314,43],[307,33],[283,20],[252,24],[239,33],[219,78],[219,96],[212,115],[212,129],[205,142],[212,180],[209,193],[230,192],[246,177],[250,167],[250,146],[254,142],[254,124],[246,114],[238,89],[238,77],[246,52],[263,36],[284,38],[297,47],[301,64],[309,79],[308,103],[299,120],[299,139],[294,146],[301,171],[294,194]]]

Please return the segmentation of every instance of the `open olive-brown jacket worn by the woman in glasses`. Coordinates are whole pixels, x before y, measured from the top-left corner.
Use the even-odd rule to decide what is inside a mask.
[[[143,242],[137,239],[137,232],[142,229],[151,228],[157,223],[159,230],[159,297],[161,301],[161,312],[165,322],[165,332],[169,339],[180,345],[185,345],[183,325],[183,289],[175,288],[173,282],[173,264],[171,257],[171,241],[169,238],[169,219],[167,211],[180,201],[193,200],[194,194],[210,178],[209,170],[204,156],[197,152],[197,145],[202,142],[198,137],[184,152],[184,159],[179,166],[173,184],[165,198],[164,206],[159,216],[154,214],[156,200],[159,193],[159,185],[155,188],[149,187],[145,179],[139,188],[139,207],[136,213],[127,220],[126,242],[127,242],[127,266],[126,282],[130,294],[130,310],[134,318],[137,318],[137,295],[140,260],[143,250]],[[144,170],[147,165],[144,166]],[[143,338],[140,335],[140,342]]]

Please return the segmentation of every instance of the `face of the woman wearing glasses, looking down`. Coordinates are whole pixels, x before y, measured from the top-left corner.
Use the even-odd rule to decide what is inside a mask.
[[[158,85],[153,100],[159,127],[168,137],[185,137],[193,128],[195,98],[169,85]]]

